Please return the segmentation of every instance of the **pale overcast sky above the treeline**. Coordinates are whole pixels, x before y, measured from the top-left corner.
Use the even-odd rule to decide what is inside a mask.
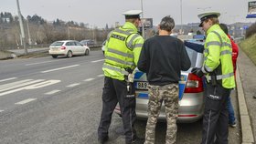
[[[252,1],[252,0],[250,0]],[[0,12],[10,12],[17,15],[16,0],[0,0]],[[39,15],[53,21],[57,18],[63,21],[88,23],[90,26],[114,26],[115,22],[124,23],[123,12],[131,9],[141,9],[142,0],[19,0],[22,15]],[[182,18],[181,18],[182,2]],[[153,18],[157,25],[165,15],[171,15],[176,24],[197,23],[197,14],[203,11],[218,11],[221,13],[221,23],[255,22],[256,19],[246,19],[249,0],[143,0],[145,18]],[[181,20],[182,19],[182,20]]]

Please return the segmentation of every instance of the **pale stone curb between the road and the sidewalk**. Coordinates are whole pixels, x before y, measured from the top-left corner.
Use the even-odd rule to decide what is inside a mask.
[[[249,117],[248,108],[247,108],[245,97],[244,97],[243,87],[240,81],[239,67],[237,67],[236,82],[237,82],[237,93],[238,93],[239,110],[240,110],[241,143],[252,144],[255,141],[252,135],[251,119]]]

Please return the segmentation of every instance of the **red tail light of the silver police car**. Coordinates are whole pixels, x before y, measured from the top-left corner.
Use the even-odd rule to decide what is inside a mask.
[[[204,91],[203,80],[197,75],[189,73],[187,77],[187,85],[185,88],[185,93],[199,93]]]

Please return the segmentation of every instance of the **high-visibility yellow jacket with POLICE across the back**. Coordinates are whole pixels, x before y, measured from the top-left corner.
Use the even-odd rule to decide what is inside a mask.
[[[124,80],[128,75],[125,68],[132,70],[137,66],[144,38],[130,22],[114,29],[105,44],[105,62],[102,70],[105,77]]]

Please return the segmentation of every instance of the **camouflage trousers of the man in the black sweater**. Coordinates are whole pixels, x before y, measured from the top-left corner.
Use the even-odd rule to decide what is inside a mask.
[[[162,103],[165,104],[165,115],[167,129],[165,144],[176,143],[176,118],[178,110],[178,85],[170,84],[165,86],[148,85],[148,119],[145,130],[144,144],[155,143],[155,124],[160,113]]]

